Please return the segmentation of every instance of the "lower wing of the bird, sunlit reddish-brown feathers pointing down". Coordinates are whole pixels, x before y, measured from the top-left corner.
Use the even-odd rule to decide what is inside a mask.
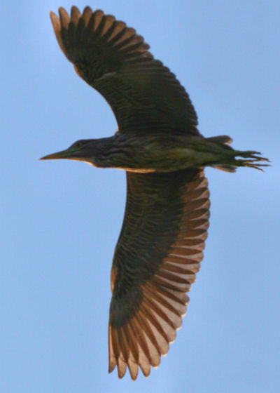
[[[160,364],[186,314],[209,227],[202,170],[127,173],[127,206],[113,260],[109,371]]]

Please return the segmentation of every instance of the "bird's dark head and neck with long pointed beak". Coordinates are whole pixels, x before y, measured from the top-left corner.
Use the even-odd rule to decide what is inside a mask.
[[[68,149],[48,154],[48,156],[43,156],[41,159],[73,159],[98,166],[99,155],[104,151],[104,148],[106,148],[108,139],[109,138],[77,140],[77,142],[73,143]]]

